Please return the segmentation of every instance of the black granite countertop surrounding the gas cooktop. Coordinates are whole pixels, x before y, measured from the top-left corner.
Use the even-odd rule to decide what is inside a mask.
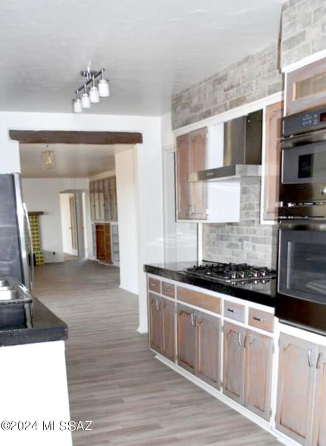
[[[275,307],[276,294],[276,280],[272,279],[265,284],[233,285],[228,283],[218,282],[211,279],[202,279],[190,274],[187,274],[186,268],[199,265],[197,261],[194,262],[177,262],[177,263],[158,263],[151,265],[144,265],[144,271],[149,274],[161,276],[166,279],[175,280],[177,282],[188,283],[189,285],[198,286],[211,291],[216,291],[235,298],[243,299],[250,302],[255,302],[268,307]]]

